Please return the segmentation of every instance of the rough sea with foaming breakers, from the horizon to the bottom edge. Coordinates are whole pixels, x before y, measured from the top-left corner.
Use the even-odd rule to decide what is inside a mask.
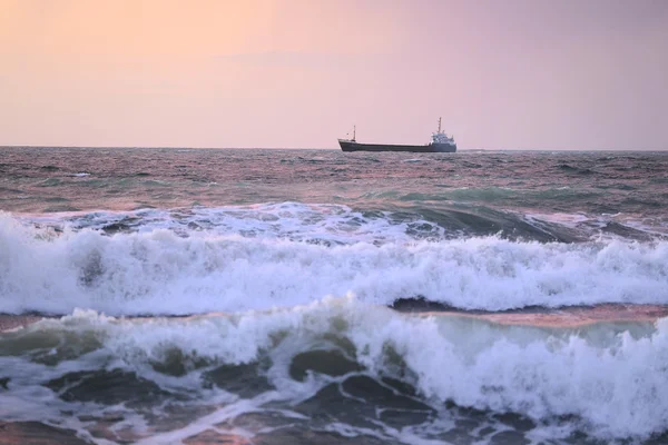
[[[668,152],[3,147],[0,314],[2,444],[665,444]]]

